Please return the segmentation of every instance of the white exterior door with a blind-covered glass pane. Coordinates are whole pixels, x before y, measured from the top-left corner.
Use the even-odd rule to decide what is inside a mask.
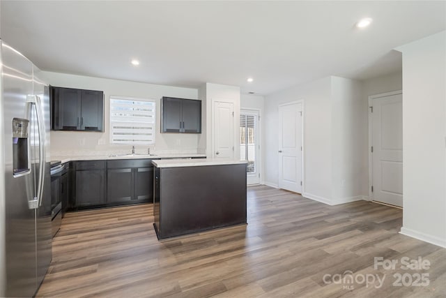
[[[247,161],[247,184],[260,184],[259,111],[240,111],[240,161]]]

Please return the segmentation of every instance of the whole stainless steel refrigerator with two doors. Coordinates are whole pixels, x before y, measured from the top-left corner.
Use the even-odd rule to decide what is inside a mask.
[[[0,297],[32,297],[52,258],[49,89],[0,46]]]

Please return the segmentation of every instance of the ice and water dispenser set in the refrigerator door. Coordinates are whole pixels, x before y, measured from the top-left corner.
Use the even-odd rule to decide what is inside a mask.
[[[18,176],[29,172],[28,157],[28,125],[29,120],[13,119],[13,174]]]

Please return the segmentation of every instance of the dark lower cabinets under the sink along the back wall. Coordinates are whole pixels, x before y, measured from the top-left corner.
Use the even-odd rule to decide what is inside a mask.
[[[64,211],[153,202],[153,159],[72,161]]]

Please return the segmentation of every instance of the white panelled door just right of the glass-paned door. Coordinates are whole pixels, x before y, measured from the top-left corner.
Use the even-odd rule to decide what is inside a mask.
[[[302,193],[302,103],[279,105],[279,188]]]

